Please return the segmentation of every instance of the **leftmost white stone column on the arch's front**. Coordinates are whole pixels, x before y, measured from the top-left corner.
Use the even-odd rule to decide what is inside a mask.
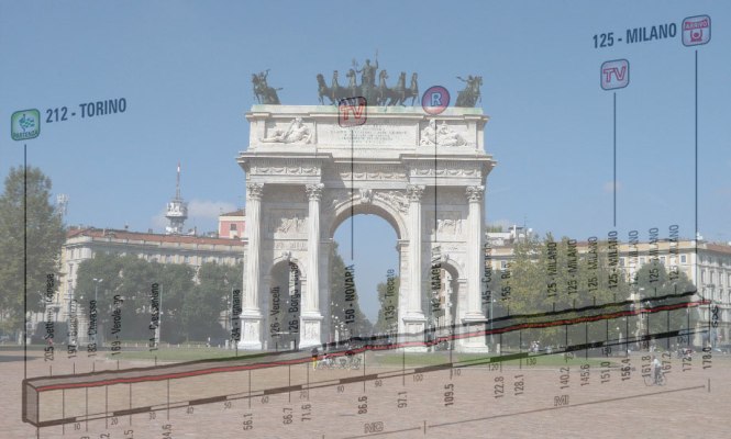
[[[259,309],[259,258],[262,248],[262,194],[264,184],[246,184],[246,235],[248,249],[242,301],[240,349],[262,349],[262,309]]]

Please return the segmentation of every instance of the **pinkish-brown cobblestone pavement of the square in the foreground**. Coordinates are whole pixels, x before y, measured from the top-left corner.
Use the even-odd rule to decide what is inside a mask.
[[[29,376],[47,375],[48,362],[32,352]],[[374,354],[369,354],[373,360]],[[642,376],[642,354],[630,357],[630,372],[622,376],[621,358],[612,367],[598,361],[588,369],[560,365],[464,368],[423,374],[396,375],[378,381],[352,382],[309,393],[272,394],[228,403],[173,408],[119,418],[96,419],[36,430],[21,421],[22,351],[3,351],[1,438],[355,438],[379,434],[394,438],[688,438],[731,437],[731,357],[713,356],[704,369],[696,354],[688,367],[673,358],[665,386],[647,386]],[[20,360],[20,361],[14,361]],[[599,360],[600,361],[600,360]],[[370,361],[373,363],[373,361]],[[554,361],[555,364],[555,361]],[[708,367],[709,363],[706,363]],[[121,368],[148,365],[120,363]],[[90,371],[88,359],[76,370]],[[107,360],[96,370],[115,369]],[[362,374],[363,370],[308,370],[299,364],[285,371],[256,371],[252,389],[279,385],[283,380],[310,382]],[[370,368],[367,373],[398,372],[399,368]],[[53,362],[54,375],[71,371],[65,360]],[[201,380],[210,391],[245,395],[247,372],[225,379]],[[624,380],[623,380],[624,379]],[[171,384],[174,387],[175,383]],[[562,389],[563,387],[563,389]],[[151,385],[149,392],[156,387]],[[173,389],[171,394],[175,394]],[[185,396],[175,395],[179,401]],[[78,408],[78,407],[77,407]],[[362,412],[358,414],[358,412]],[[365,413],[363,413],[365,412]],[[250,428],[251,429],[247,429]],[[106,436],[108,435],[108,436]]]

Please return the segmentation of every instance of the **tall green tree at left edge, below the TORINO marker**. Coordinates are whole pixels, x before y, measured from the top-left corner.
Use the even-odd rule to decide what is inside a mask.
[[[0,308],[5,330],[22,327],[25,294],[29,309],[40,311],[60,283],[58,270],[65,228],[60,213],[49,202],[51,189],[51,179],[34,167],[26,172],[22,167],[13,167],[4,181],[0,195]],[[24,236],[27,258],[23,252]],[[49,274],[54,277],[53,285],[47,282]]]

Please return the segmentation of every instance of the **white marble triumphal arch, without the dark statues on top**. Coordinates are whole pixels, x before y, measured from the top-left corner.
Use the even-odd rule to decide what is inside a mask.
[[[434,266],[451,279],[454,324],[484,330],[484,195],[495,161],[485,153],[481,109],[431,116],[368,106],[364,125],[341,126],[334,105],[261,104],[246,119],[248,148],[237,158],[247,241],[240,348],[272,348],[274,333],[296,334],[298,348],[333,339],[330,307],[344,292],[329,291],[330,249],[354,214],[378,215],[396,230],[401,339],[423,339],[429,328]],[[289,281],[277,280],[281,273]],[[298,318],[274,322],[285,296]],[[459,350],[486,348],[481,335],[457,338]]]

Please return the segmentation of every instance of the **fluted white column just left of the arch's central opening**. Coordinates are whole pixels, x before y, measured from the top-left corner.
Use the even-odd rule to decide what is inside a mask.
[[[307,290],[302,301],[300,348],[320,345],[320,200],[324,184],[307,184],[309,200],[307,230]]]

